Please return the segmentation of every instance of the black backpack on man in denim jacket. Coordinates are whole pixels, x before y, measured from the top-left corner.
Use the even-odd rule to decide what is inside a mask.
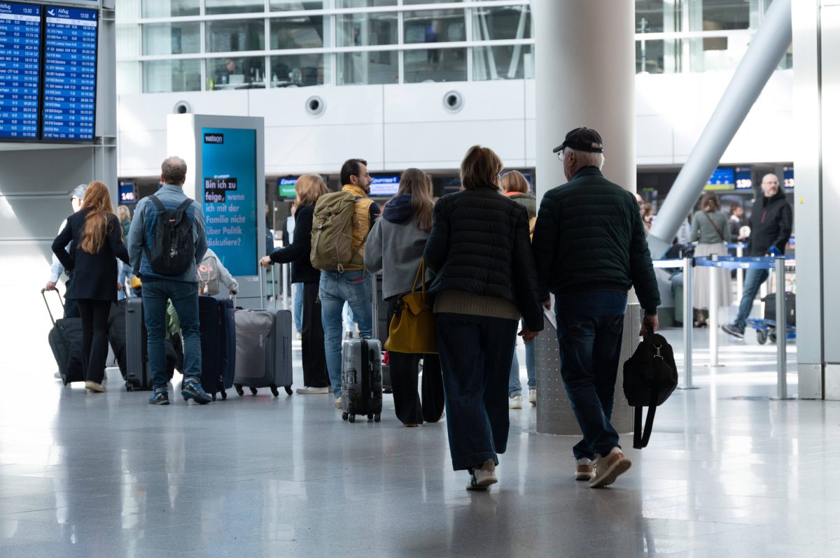
[[[183,275],[196,260],[196,242],[192,238],[192,220],[186,208],[192,200],[186,198],[175,210],[167,210],[157,196],[150,196],[158,210],[155,240],[151,250],[144,248],[146,258],[156,274]]]

